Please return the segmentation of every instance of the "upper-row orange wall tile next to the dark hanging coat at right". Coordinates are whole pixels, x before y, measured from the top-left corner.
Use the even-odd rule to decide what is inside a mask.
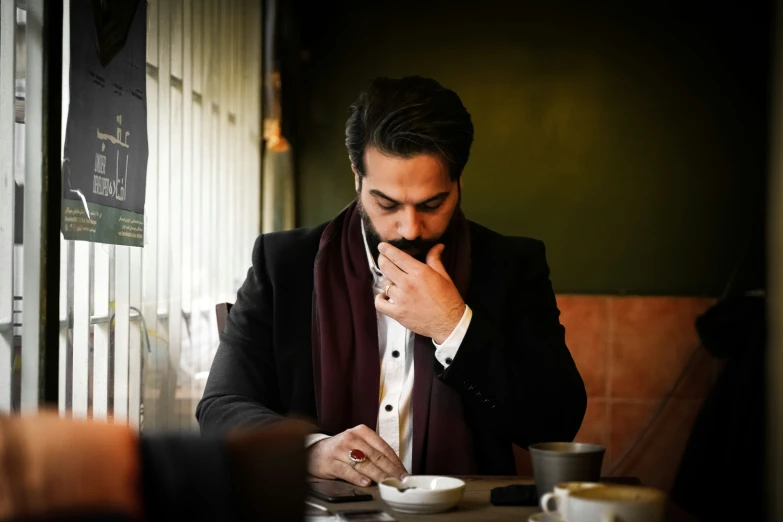
[[[689,297],[611,298],[611,396],[657,399],[671,391],[688,357],[699,349],[696,317],[712,302]]]

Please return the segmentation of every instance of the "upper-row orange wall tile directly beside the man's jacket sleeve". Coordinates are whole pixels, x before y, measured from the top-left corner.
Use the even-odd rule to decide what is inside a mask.
[[[606,397],[609,299],[603,296],[557,296],[560,323],[588,397]]]

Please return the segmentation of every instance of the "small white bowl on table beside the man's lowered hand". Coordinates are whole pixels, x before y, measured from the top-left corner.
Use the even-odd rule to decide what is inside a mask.
[[[400,489],[407,489],[400,491]],[[381,498],[400,513],[429,515],[442,513],[462,500],[465,483],[453,477],[412,475],[403,480],[386,479],[378,484]]]

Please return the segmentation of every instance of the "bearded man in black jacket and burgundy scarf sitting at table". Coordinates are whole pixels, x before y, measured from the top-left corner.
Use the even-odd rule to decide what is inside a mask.
[[[203,432],[316,419],[308,470],[356,485],[515,474],[512,443],[571,440],[586,407],[540,241],[465,219],[473,124],[436,81],[353,104],[356,201],[258,238],[196,416]]]

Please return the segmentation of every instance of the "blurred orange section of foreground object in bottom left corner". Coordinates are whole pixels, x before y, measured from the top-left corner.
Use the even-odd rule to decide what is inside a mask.
[[[0,519],[121,513],[138,519],[138,439],[125,426],[0,416]]]

